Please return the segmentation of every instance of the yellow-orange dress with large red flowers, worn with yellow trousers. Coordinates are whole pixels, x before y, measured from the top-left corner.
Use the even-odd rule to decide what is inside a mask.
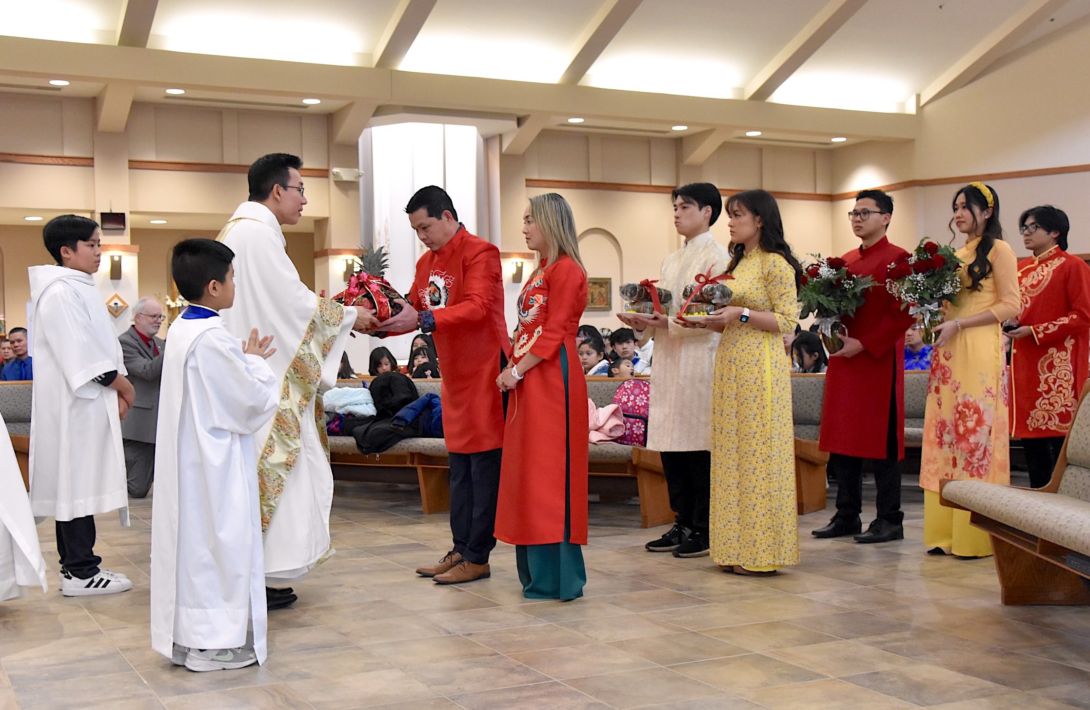
[[[992,554],[992,543],[988,533],[970,527],[967,512],[943,507],[938,482],[1010,483],[1010,397],[1000,324],[1018,315],[1020,308],[1017,258],[1004,241],[992,246],[992,273],[980,282],[980,290],[968,289],[965,269],[976,258],[979,243],[978,237],[957,252],[964,263],[961,290],[945,317],[954,321],[989,311],[996,322],[962,328],[932,351],[920,454],[923,544],[967,557]]]

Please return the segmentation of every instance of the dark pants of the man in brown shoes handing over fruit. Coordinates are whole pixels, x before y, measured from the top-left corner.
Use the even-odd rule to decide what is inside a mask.
[[[504,449],[450,455],[450,532],[455,550],[475,565],[496,546],[496,498]]]

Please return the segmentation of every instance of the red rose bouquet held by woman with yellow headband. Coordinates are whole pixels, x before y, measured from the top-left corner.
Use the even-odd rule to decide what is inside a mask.
[[[933,341],[931,329],[942,321],[943,303],[957,301],[960,265],[954,248],[924,237],[910,254],[886,267],[886,290],[900,300],[900,308],[907,306],[916,316],[928,345]]]

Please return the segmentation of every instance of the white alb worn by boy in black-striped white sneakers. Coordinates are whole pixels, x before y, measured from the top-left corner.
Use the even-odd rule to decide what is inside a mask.
[[[110,312],[90,274],[32,266],[31,508],[72,520],[118,510],[129,525],[118,393],[95,377],[128,374]]]

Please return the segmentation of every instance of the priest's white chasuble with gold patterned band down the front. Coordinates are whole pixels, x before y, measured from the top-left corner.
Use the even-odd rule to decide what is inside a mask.
[[[320,392],[337,384],[355,309],[303,285],[265,205],[242,203],[218,239],[234,251],[234,305],[220,314],[223,325],[237,338],[251,328],[275,338],[268,364],[280,400],[254,440],[265,574],[270,581],[298,579],[332,554],[334,478],[319,402]]]

